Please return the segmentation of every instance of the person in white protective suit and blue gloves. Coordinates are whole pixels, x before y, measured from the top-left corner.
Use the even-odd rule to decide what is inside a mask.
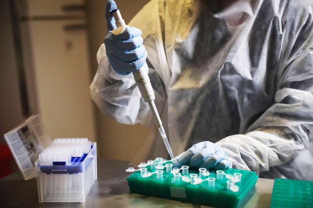
[[[175,166],[313,180],[312,5],[151,0],[115,37],[108,1],[92,98],[118,122],[152,124],[131,74],[146,60]],[[166,157],[158,134],[150,150],[142,160]]]

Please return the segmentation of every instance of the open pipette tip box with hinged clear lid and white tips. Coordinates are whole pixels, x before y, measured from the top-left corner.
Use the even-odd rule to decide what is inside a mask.
[[[39,202],[85,202],[97,178],[96,143],[87,138],[61,138],[51,142],[39,115],[29,117],[4,136],[23,178],[37,177]],[[71,141],[84,141],[87,149],[79,146],[74,151],[83,153],[73,156],[63,149],[63,155],[69,156],[64,159],[60,157],[61,144],[55,154],[43,157],[58,140],[65,141],[68,147],[72,147]]]

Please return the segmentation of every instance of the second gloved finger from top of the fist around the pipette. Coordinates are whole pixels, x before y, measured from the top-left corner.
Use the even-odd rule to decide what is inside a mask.
[[[111,37],[112,34],[109,33],[108,36]],[[110,37],[105,39],[106,47],[109,46],[109,45],[112,45],[116,49],[119,49],[119,50],[122,50],[122,51],[132,50],[134,48],[137,48],[137,47],[141,46],[142,43],[143,43],[143,39],[142,39],[141,36],[136,36],[136,37],[130,38],[128,40],[124,40],[124,41],[114,40],[114,39],[112,39]]]

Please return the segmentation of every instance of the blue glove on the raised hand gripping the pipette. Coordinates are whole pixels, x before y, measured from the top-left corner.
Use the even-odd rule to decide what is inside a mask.
[[[113,69],[118,74],[128,75],[143,66],[148,53],[142,45],[142,33],[138,28],[126,26],[120,35],[112,33],[117,27],[111,12],[116,9],[115,2],[108,0],[106,19],[109,33],[104,42]]]

